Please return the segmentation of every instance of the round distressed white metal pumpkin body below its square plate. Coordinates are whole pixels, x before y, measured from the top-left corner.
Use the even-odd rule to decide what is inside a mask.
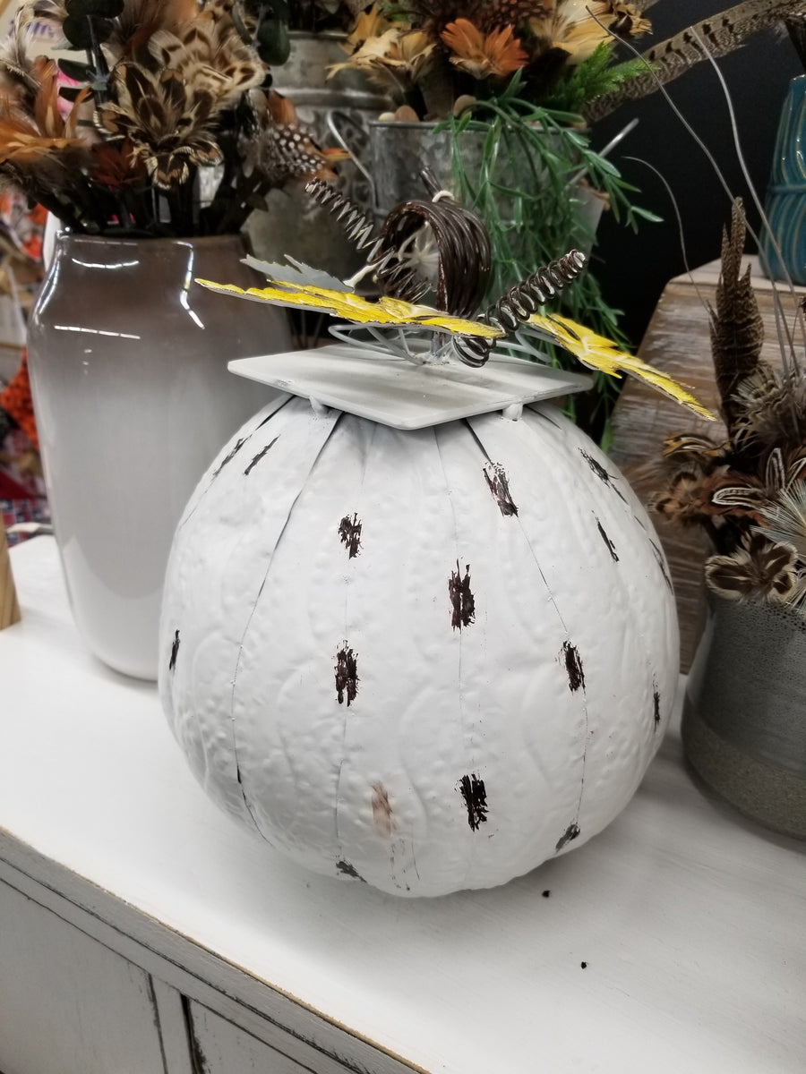
[[[660,744],[660,545],[550,406],[411,432],[317,410],[261,411],[187,506],[173,731],[210,795],[311,869],[409,896],[502,884],[601,831]]]

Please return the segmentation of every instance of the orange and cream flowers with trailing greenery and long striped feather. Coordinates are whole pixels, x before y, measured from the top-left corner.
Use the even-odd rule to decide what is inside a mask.
[[[398,108],[384,118],[437,120],[450,131],[456,191],[492,238],[491,293],[558,249],[590,246],[580,176],[627,226],[654,218],[633,204],[635,188],[607,150],[593,149],[596,119],[803,8],[802,0],[744,0],[638,56],[632,41],[651,32],[645,12],[654,2],[378,0],[356,21],[343,66],[393,96]],[[484,139],[478,166],[462,153],[465,131]],[[591,265],[563,307],[627,343],[618,311],[602,296],[595,256]],[[603,430],[606,447],[616,393],[600,379],[598,395],[599,413],[587,420],[594,435]]]

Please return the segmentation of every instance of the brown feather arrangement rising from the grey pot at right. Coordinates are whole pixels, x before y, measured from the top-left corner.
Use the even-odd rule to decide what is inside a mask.
[[[806,369],[791,340],[781,347],[780,371],[760,358],[762,319],[750,267],[740,267],[745,230],[738,202],[709,311],[726,436],[670,436],[660,463],[663,489],[649,506],[708,534],[709,591],[786,604],[806,616]]]

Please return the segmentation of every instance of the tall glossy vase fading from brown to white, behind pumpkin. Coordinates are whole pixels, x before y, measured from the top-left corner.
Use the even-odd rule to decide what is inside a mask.
[[[176,522],[221,444],[268,389],[229,359],[290,349],[282,310],[196,277],[254,286],[241,236],[61,234],[29,324],[48,499],[70,601],[110,667],[156,678],[162,582]]]

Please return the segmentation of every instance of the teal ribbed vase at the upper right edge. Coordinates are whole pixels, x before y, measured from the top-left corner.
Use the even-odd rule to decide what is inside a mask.
[[[806,284],[806,75],[789,84],[773,151],[765,212],[769,233],[764,229],[761,236],[764,272],[772,279]]]

